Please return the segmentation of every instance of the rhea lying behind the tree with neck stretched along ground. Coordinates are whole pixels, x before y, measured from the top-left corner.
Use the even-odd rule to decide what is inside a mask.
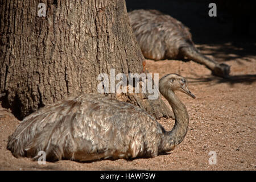
[[[228,77],[230,66],[202,55],[192,42],[189,28],[157,10],[134,10],[129,13],[131,26],[144,57],[152,60],[187,57],[204,64],[213,75]]]

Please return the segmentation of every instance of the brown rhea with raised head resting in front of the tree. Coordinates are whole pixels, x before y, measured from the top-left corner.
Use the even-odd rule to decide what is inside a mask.
[[[139,107],[100,94],[82,94],[28,115],[9,137],[7,148],[16,157],[34,160],[44,151],[49,161],[145,158],[173,150],[187,134],[189,120],[174,92],[195,96],[185,78],[176,74],[162,77],[159,90],[175,114],[171,131]]]

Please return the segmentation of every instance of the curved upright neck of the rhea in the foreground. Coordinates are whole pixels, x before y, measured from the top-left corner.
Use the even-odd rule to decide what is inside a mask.
[[[174,91],[168,90],[162,93],[172,107],[175,115],[175,125],[171,131],[166,131],[163,139],[163,150],[173,150],[177,144],[183,141],[188,130],[188,111],[185,105],[179,100]]]

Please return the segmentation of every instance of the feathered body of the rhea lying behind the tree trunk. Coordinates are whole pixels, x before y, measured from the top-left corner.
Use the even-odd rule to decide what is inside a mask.
[[[175,59],[179,49],[193,45],[189,28],[157,10],[134,10],[129,18],[144,57]]]

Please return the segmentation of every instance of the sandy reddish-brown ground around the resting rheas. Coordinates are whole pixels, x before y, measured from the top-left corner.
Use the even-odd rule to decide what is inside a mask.
[[[255,45],[254,45],[255,46]],[[188,78],[196,99],[177,93],[187,106],[189,130],[184,141],[168,155],[150,159],[102,160],[79,163],[61,160],[39,165],[28,158],[15,158],[6,150],[7,139],[19,121],[9,111],[0,109],[1,170],[255,170],[256,164],[256,56],[223,51],[230,45],[197,46],[232,66],[229,79],[210,75],[203,65],[192,61],[146,61],[150,73],[178,73]],[[233,48],[230,48],[233,49]],[[222,51],[220,51],[222,50]],[[230,59],[233,57],[233,59]],[[174,120],[159,122],[171,130]],[[210,165],[209,152],[217,154],[217,164]]]

